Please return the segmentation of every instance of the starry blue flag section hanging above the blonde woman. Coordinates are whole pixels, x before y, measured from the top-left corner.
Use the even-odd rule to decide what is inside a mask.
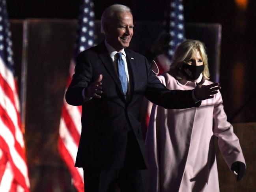
[[[166,31],[171,36],[167,55],[170,59],[179,43],[185,40],[184,14],[182,0],[171,0],[166,11]]]

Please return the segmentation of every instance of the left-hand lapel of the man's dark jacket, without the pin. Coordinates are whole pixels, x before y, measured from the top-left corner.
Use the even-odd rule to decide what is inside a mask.
[[[101,50],[103,50],[101,53],[99,53],[99,58],[101,59],[102,63],[105,65],[108,73],[113,78],[114,82],[118,86],[118,89],[120,91],[120,95],[122,95],[123,100],[125,101],[125,97],[123,95],[123,89],[121,86],[120,79],[118,77],[118,74],[116,73],[116,69],[113,65],[112,59],[109,56],[108,50],[105,46],[105,43],[101,43]]]

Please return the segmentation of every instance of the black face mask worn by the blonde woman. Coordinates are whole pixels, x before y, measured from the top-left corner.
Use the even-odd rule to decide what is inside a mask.
[[[200,74],[204,71],[204,65],[189,65],[186,63],[183,63],[182,65],[182,71],[184,73],[184,75],[191,80],[196,80]],[[191,73],[189,73],[189,71]]]

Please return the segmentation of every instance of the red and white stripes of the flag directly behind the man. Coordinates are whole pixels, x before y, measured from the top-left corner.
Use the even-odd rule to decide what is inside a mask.
[[[67,86],[71,82],[74,69],[75,63],[72,60],[69,68]],[[82,168],[75,167],[75,159],[77,156],[77,149],[81,134],[81,114],[81,106],[71,106],[67,104],[64,98],[62,117],[60,119],[58,149],[62,159],[71,173],[73,185],[77,188],[78,192],[84,192],[83,170]]]

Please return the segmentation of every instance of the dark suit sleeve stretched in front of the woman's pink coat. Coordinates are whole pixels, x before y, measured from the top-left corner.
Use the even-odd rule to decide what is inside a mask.
[[[146,58],[145,63],[148,76],[148,86],[145,96],[149,99],[149,101],[164,108],[172,109],[183,109],[200,106],[201,101],[194,103],[192,98],[192,90],[182,91],[167,89],[159,81],[157,76],[155,76]]]

